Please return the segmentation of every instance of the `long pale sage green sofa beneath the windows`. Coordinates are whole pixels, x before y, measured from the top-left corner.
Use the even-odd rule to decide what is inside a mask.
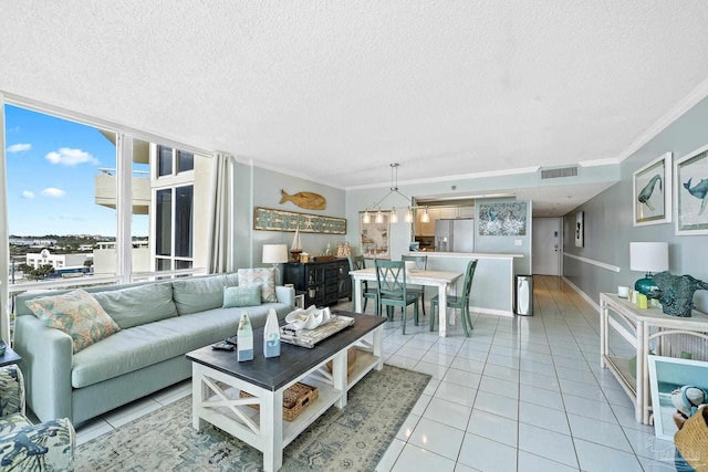
[[[225,291],[238,292],[231,289],[238,282],[237,274],[220,274],[84,289],[119,331],[81,345],[77,352],[76,336],[63,327],[49,327],[30,306],[37,310],[39,298],[51,307],[46,300],[79,292],[18,295],[13,348],[22,356],[19,366],[27,382],[28,406],[42,421],[69,418],[81,423],[189,378],[191,364],[185,354],[233,336],[243,310],[258,328],[264,325],[270,308],[280,319],[294,308],[294,290],[274,284],[268,298],[274,301],[222,307]],[[248,303],[249,297],[239,300]]]

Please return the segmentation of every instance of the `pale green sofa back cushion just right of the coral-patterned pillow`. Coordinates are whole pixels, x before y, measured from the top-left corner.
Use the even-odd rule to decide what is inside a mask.
[[[177,316],[173,286],[166,283],[94,293],[121,329]]]

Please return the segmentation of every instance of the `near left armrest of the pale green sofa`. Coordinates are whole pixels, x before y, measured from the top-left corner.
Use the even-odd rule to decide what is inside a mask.
[[[34,316],[18,316],[13,349],[22,356],[27,402],[41,421],[72,418],[71,336]]]

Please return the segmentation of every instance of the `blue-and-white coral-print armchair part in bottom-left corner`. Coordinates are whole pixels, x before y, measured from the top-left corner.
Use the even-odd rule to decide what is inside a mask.
[[[73,471],[76,433],[66,418],[0,438],[0,471]]]

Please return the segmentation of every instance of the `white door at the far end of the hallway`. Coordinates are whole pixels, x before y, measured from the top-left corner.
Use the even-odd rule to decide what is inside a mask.
[[[532,273],[561,275],[561,219],[534,218],[532,227]]]

